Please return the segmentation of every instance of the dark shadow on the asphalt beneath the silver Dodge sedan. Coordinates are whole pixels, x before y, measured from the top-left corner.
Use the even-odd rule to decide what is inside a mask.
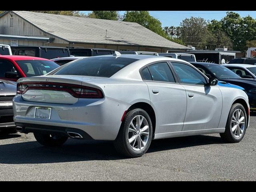
[[[147,153],[219,143],[223,143],[220,137],[206,135],[153,140]],[[42,164],[124,158],[116,152],[112,142],[106,141],[69,139],[63,146],[57,148],[44,147],[36,141],[0,145],[2,164]]]

